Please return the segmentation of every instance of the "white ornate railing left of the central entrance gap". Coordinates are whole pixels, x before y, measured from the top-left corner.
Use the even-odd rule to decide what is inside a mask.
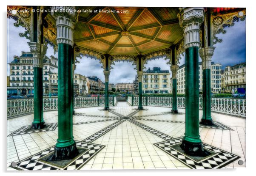
[[[114,97],[115,98],[115,97]],[[113,97],[109,97],[109,105],[114,105]],[[76,97],[74,108],[105,106],[105,97]],[[57,110],[58,98],[44,98],[43,110]],[[34,99],[8,99],[7,118],[32,113],[34,111]]]

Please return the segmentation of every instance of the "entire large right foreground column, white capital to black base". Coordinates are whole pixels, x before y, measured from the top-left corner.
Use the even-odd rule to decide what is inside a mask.
[[[204,21],[204,8],[180,8],[178,15],[184,31],[185,48],[185,81],[186,109],[185,136],[181,148],[188,155],[203,154],[202,141],[199,135],[199,53],[200,24]]]

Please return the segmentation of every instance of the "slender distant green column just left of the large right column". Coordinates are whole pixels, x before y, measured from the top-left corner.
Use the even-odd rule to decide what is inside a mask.
[[[172,109],[171,109],[171,113],[178,113],[178,110],[177,110],[177,79],[176,79],[176,76],[177,76],[177,71],[179,69],[179,66],[178,65],[172,65],[171,66],[171,74],[172,74],[172,82],[173,82],[173,85],[172,85]]]

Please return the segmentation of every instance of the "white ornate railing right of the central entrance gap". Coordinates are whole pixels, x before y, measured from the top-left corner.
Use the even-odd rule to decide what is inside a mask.
[[[139,97],[134,96],[132,98],[133,105],[139,104]],[[128,98],[128,102],[131,98]],[[132,104],[131,102],[129,102]],[[143,106],[160,106],[160,107],[172,107],[172,97],[159,97],[159,96],[143,96]],[[185,97],[177,97],[177,107],[185,108]],[[199,109],[203,108],[203,99],[199,97]],[[246,116],[246,100],[236,98],[211,98],[211,110],[213,112],[225,113],[230,115],[236,115],[245,117]]]

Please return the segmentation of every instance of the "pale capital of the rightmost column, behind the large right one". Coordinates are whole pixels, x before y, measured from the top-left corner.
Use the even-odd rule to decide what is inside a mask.
[[[205,47],[199,49],[199,55],[202,58],[202,69],[211,68],[211,58],[213,56],[215,47]]]

